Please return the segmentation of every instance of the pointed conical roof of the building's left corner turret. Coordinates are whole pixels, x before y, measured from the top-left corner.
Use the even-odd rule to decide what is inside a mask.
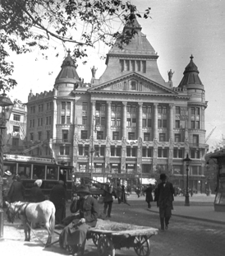
[[[71,58],[70,51],[68,51],[67,57],[63,60],[61,71],[57,75],[55,84],[79,81],[79,77],[76,72],[76,64]]]

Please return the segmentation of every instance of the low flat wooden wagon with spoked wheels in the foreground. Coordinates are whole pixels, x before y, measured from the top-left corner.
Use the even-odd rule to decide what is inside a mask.
[[[114,221],[99,221],[88,231],[87,239],[92,239],[98,248],[99,256],[115,256],[116,249],[131,247],[138,256],[149,256],[150,237],[157,235],[158,229],[147,226],[135,226]],[[73,253],[73,246],[67,247]]]

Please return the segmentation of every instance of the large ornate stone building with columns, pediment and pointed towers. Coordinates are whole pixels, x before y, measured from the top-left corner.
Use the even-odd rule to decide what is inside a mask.
[[[190,187],[200,190],[207,102],[198,68],[191,56],[178,86],[172,70],[164,81],[158,54],[137,21],[135,30],[130,44],[110,49],[99,79],[93,67],[90,84],[84,83],[68,53],[53,91],[30,92],[27,138],[40,146],[30,153],[74,166],[76,177],[137,179],[166,171],[181,188],[189,153]]]

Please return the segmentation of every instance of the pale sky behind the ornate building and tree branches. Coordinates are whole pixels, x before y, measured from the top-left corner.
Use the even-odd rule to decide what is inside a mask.
[[[225,137],[225,1],[219,0],[132,0],[140,12],[151,7],[151,19],[138,19],[142,32],[158,53],[158,68],[165,81],[168,71],[174,72],[173,86],[177,87],[183,77],[191,54],[199,69],[199,77],[204,85],[208,107],[205,109],[206,137],[214,129],[207,144],[209,151]],[[30,90],[34,94],[52,91],[57,74],[61,70],[67,52],[58,44],[58,58],[50,52],[48,61],[40,52],[13,55],[14,76],[18,85],[8,95],[13,99],[27,102]],[[99,78],[105,68],[102,54],[108,47],[89,50],[85,65],[78,63],[77,73],[90,82],[90,68],[98,68]]]

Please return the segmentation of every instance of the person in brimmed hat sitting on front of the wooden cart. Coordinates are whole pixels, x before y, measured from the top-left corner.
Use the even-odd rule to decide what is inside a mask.
[[[73,255],[82,256],[85,251],[86,233],[97,223],[99,204],[95,198],[90,196],[89,188],[84,185],[81,185],[76,193],[78,196],[73,198],[70,210],[72,213],[79,212],[79,215],[62,230],[59,244],[62,248],[68,245],[75,246]]]

